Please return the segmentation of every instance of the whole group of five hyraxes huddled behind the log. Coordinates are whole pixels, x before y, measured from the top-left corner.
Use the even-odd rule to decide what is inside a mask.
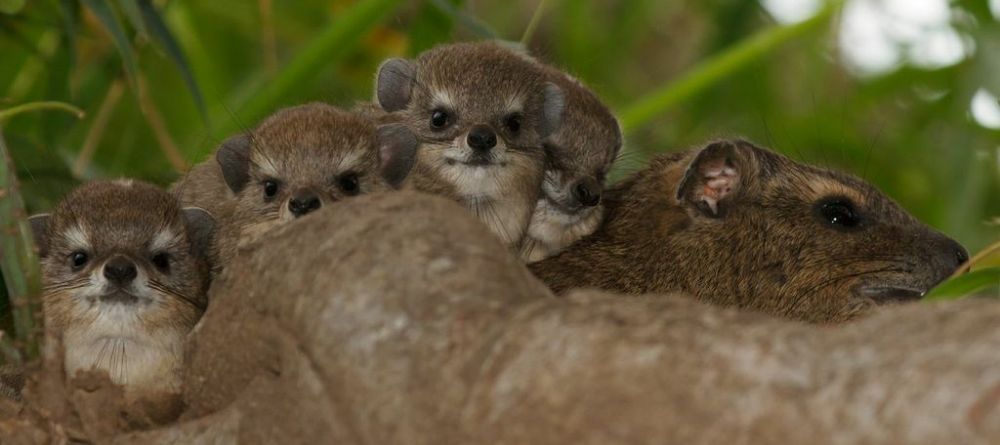
[[[605,190],[616,118],[569,75],[492,43],[378,70],[375,101],[278,111],[171,192],[84,185],[32,218],[66,373],[179,392],[211,278],[273,227],[411,189],[469,209],[557,293],[682,292],[811,321],[919,298],[964,249],[870,185],[744,141],[664,155]],[[316,217],[319,215],[313,215]]]

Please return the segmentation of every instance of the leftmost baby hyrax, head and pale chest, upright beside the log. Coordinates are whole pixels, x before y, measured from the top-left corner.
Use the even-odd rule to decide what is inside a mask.
[[[77,188],[31,226],[67,376],[97,369],[127,398],[178,395],[184,339],[205,309],[213,218],[119,180]]]

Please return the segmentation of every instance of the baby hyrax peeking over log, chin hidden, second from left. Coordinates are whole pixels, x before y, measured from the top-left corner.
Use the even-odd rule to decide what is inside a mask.
[[[225,141],[174,186],[220,214],[217,267],[272,227],[339,199],[399,187],[417,141],[399,124],[312,103],[281,110]]]

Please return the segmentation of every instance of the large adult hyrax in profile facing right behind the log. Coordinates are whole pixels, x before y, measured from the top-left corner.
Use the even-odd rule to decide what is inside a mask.
[[[870,184],[741,140],[660,156],[605,206],[593,235],[531,266],[557,293],[681,291],[842,321],[919,299],[967,260]]]

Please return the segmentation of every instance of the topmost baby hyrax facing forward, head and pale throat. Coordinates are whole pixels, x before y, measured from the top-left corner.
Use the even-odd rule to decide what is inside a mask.
[[[496,43],[439,46],[382,64],[376,100],[421,142],[408,187],[448,196],[519,247],[559,129],[563,93],[534,63]]]

